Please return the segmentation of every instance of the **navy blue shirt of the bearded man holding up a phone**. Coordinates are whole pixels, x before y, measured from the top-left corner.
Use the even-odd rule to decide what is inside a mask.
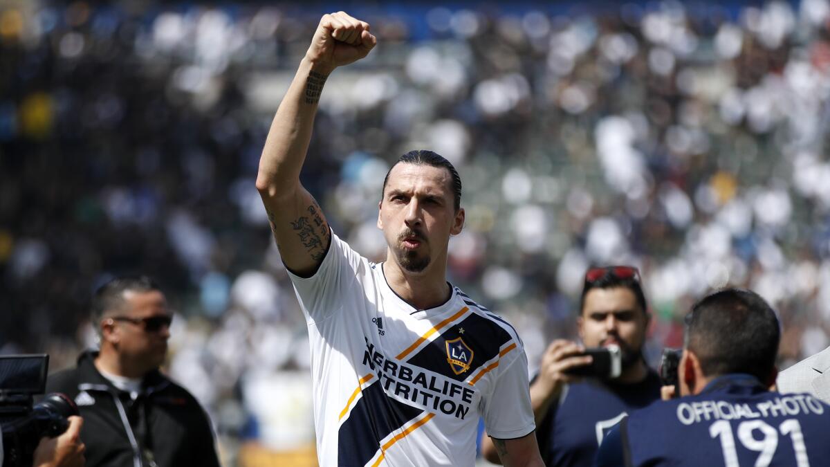
[[[632,410],[660,399],[654,371],[640,382],[585,380],[566,386],[559,403],[536,426],[536,440],[548,466],[592,465],[599,443]]]

